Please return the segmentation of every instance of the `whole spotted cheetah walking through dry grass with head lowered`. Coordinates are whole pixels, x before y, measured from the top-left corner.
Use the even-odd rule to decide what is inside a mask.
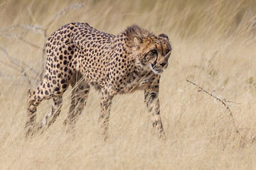
[[[112,98],[144,90],[154,129],[165,137],[159,107],[159,81],[168,66],[171,44],[166,34],[154,35],[137,25],[119,35],[104,33],[88,23],[68,23],[46,42],[43,81],[28,91],[26,136],[48,128],[60,114],[63,93],[73,87],[64,125],[71,129],[85,107],[90,87],[100,92],[100,134],[107,139]],[[36,108],[53,98],[51,112],[36,124]],[[69,128],[68,128],[69,129]]]

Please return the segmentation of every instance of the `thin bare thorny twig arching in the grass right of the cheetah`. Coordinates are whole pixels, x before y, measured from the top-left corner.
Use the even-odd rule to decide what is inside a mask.
[[[214,91],[212,91],[211,93],[209,93],[208,91],[206,91],[205,89],[203,89],[201,86],[198,86],[197,84],[193,83],[192,81],[189,81],[188,79],[186,79],[186,81],[188,81],[188,83],[190,83],[190,84],[193,84],[194,86],[197,86],[197,87],[200,89],[200,90],[198,90],[198,92],[203,91],[203,92],[205,92],[206,94],[208,94],[209,96],[215,98],[217,101],[220,101],[220,103],[222,103],[222,104],[225,106],[225,108],[227,108],[228,112],[229,112],[230,115],[231,115],[231,118],[232,118],[232,120],[233,120],[233,125],[234,125],[234,127],[235,127],[235,132],[237,132],[238,135],[240,135],[240,132],[238,131],[237,126],[235,125],[235,119],[234,119],[233,113],[230,111],[230,108],[229,108],[228,105],[225,103],[225,102],[230,102],[230,101],[226,101],[225,99],[223,100],[223,99],[221,99],[221,98],[218,98],[217,96],[214,96],[214,95],[213,95],[213,92],[214,92]],[[231,101],[231,102],[232,102],[232,101]]]

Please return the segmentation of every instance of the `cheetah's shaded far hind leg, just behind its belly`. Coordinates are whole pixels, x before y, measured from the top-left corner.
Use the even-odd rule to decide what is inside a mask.
[[[90,92],[90,84],[85,81],[82,74],[78,72],[70,85],[73,86],[70,98],[70,109],[68,117],[65,119],[63,124],[68,124],[68,131],[73,131],[75,122],[78,120],[78,116],[82,113],[82,110],[86,105],[87,96]]]

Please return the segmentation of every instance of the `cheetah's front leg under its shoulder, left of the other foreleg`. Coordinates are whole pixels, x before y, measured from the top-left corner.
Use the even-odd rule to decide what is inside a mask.
[[[114,95],[112,95],[107,90],[103,90],[101,94],[99,124],[104,140],[107,140],[107,131],[110,119],[110,107],[112,104],[113,96]]]

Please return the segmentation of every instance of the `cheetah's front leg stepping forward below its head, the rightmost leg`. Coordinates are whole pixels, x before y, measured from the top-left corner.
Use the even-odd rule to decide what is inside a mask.
[[[148,108],[149,114],[151,115],[151,121],[153,127],[159,133],[161,139],[165,139],[165,133],[163,124],[161,122],[160,116],[160,105],[159,105],[159,88],[154,86],[154,88],[149,87],[144,91],[146,107]]]

